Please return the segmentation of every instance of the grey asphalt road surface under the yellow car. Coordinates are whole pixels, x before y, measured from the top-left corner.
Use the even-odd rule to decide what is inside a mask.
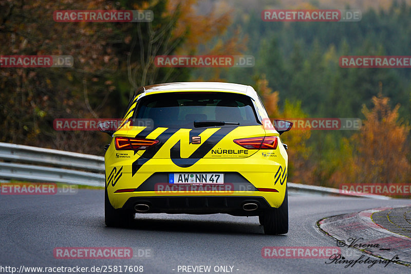
[[[219,266],[232,266],[233,273],[411,272],[409,267],[392,263],[386,267],[376,264],[368,268],[369,265],[356,264],[345,268],[345,264],[326,264],[329,259],[261,257],[261,249],[265,246],[335,247],[334,239],[316,227],[316,222],[321,218],[381,206],[409,205],[409,199],[374,200],[291,194],[290,229],[287,235],[278,236],[264,235],[257,217],[225,214],[140,214],[133,228],[106,228],[103,199],[104,191],[101,190],[79,190],[75,195],[0,195],[0,272],[6,271],[2,267],[20,269],[21,265],[141,265],[143,273],[190,273],[178,271],[178,267],[199,265],[211,266],[211,273],[215,273],[214,267]],[[65,260],[54,258],[53,250],[56,247],[132,247],[135,252],[151,249],[152,254],[143,259]],[[342,247],[343,252],[345,249]],[[349,254],[350,259],[355,260],[363,253],[350,250]]]

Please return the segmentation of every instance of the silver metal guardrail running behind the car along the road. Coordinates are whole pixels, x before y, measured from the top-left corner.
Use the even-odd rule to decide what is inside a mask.
[[[28,145],[0,143],[0,178],[103,187],[105,183],[104,157],[30,147]],[[292,182],[287,182],[287,187],[290,192],[302,194],[342,195],[338,189],[334,188],[294,184]],[[387,196],[380,195],[351,196],[389,199]]]

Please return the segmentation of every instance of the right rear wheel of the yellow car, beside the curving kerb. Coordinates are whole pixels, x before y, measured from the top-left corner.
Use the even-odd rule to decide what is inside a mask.
[[[279,208],[264,210],[263,217],[259,218],[263,223],[264,233],[268,235],[286,234],[288,232],[288,191],[283,204]]]

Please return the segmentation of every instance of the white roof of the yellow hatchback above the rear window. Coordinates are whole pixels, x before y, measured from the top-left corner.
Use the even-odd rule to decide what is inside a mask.
[[[211,92],[231,92],[250,96],[257,100],[257,93],[254,88],[248,85],[222,83],[222,82],[178,82],[164,83],[140,87],[138,94],[148,95],[151,93],[163,92],[192,92],[192,91],[211,91]],[[143,96],[144,96],[143,95]]]

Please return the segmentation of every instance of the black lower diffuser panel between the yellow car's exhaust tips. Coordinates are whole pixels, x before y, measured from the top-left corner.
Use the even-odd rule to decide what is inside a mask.
[[[256,204],[255,210],[244,210],[245,204]],[[148,210],[139,213],[227,213],[235,216],[258,216],[270,208],[260,196],[146,196],[130,197],[122,209],[135,210],[136,205],[147,205]]]

